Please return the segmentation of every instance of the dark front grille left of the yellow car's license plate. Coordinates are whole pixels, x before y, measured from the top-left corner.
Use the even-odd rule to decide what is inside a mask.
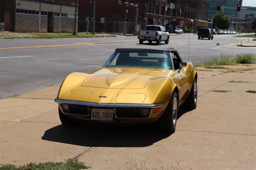
[[[69,114],[89,115],[88,106],[85,105],[62,104],[62,109]]]

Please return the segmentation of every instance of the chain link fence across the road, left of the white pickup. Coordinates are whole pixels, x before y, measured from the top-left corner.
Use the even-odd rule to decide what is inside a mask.
[[[86,21],[78,21],[78,32],[92,32],[92,22],[89,22],[90,27],[88,27]],[[103,33],[120,33],[123,34],[133,34],[135,30],[144,29],[146,23],[138,23],[137,29],[135,29],[135,22],[95,22],[95,32]],[[124,30],[125,27],[125,30]]]

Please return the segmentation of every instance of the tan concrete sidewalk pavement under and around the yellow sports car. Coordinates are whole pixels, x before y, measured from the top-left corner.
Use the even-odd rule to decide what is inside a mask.
[[[130,158],[138,164],[146,160],[148,169],[170,168],[179,161],[182,169],[256,169],[256,94],[245,92],[256,91],[256,64],[224,67],[254,70],[198,68],[198,107],[181,107],[171,135],[154,127],[64,127],[54,102],[59,85],[3,99],[0,164],[78,156],[92,170],[125,168]]]

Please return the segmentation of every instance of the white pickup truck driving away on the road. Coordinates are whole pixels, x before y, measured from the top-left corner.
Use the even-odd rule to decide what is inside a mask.
[[[148,41],[149,43],[156,42],[158,45],[160,45],[161,41],[164,41],[165,44],[168,44],[169,37],[169,32],[163,26],[147,25],[145,30],[138,32],[140,44],[144,41]]]

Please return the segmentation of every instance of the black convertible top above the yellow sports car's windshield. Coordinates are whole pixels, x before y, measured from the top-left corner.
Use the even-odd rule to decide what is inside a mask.
[[[171,47],[154,47],[154,46],[144,46],[144,45],[136,45],[136,46],[128,46],[128,47],[119,47],[116,50],[122,49],[131,49],[131,50],[152,50],[152,51],[176,51],[174,48]]]

